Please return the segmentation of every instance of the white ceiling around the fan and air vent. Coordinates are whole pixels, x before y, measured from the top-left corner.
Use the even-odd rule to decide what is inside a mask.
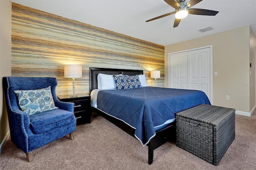
[[[189,0],[186,0],[188,2]],[[56,14],[160,45],[170,45],[250,25],[256,35],[256,0],[203,0],[192,8],[219,11],[216,16],[189,14],[173,28],[174,12],[164,0],[12,0],[17,4]],[[211,26],[214,30],[198,30]]]

